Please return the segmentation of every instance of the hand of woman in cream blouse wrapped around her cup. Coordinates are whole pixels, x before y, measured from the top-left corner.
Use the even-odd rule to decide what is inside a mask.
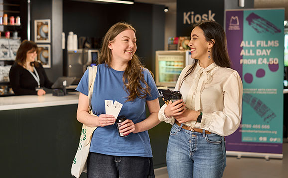
[[[186,105],[183,102],[183,99],[180,99],[180,100],[175,101],[173,103],[172,103],[172,101],[170,101],[164,110],[164,114],[166,117],[179,116],[185,112],[185,110],[186,110],[185,106]]]

